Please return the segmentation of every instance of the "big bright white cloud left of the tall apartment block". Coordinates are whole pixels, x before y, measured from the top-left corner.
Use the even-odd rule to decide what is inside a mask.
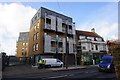
[[[1,51],[15,54],[19,32],[29,31],[30,20],[36,11],[21,3],[0,4]]]

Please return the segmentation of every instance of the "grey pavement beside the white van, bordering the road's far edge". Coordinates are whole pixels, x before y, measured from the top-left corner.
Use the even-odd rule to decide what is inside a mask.
[[[38,69],[37,66],[31,66],[31,65],[19,65],[19,66],[11,66],[7,67],[5,71],[2,72],[3,76],[10,76],[10,75],[23,75],[23,74],[37,74],[37,73],[44,73],[44,72],[50,72],[50,71],[65,71],[65,70],[75,70],[75,69],[85,69],[88,67],[93,67],[96,65],[88,65],[88,66],[68,66],[66,67],[58,67],[58,68],[43,68]]]

